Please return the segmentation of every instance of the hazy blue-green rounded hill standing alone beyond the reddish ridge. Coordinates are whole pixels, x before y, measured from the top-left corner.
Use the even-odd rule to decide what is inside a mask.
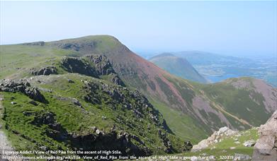
[[[163,68],[165,71],[181,78],[199,83],[207,83],[205,78],[203,78],[203,76],[201,76],[186,59],[174,56],[174,54],[159,54],[157,56],[153,56],[149,59],[149,61],[156,64],[160,68]]]

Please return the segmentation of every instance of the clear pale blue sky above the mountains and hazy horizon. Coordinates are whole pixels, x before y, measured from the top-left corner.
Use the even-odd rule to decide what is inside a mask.
[[[276,55],[276,1],[1,1],[0,43],[113,35],[133,51]]]

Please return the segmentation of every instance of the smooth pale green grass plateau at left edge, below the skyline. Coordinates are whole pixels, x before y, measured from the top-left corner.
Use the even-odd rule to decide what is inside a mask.
[[[30,68],[55,64],[62,56],[75,52],[47,46],[22,44],[0,46],[0,78],[23,78],[30,76]]]

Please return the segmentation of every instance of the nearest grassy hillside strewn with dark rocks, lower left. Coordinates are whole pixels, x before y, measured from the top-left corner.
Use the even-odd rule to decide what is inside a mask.
[[[78,73],[23,81],[37,88],[47,102],[19,91],[1,92],[4,126],[18,150],[106,149],[124,155],[181,152],[182,141],[136,91]]]

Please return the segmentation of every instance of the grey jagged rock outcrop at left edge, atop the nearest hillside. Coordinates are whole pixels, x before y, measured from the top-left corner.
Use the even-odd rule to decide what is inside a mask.
[[[1,91],[8,93],[23,93],[33,100],[47,103],[47,100],[45,100],[43,94],[40,93],[40,90],[38,90],[38,88],[31,87],[30,83],[26,80],[1,80],[0,92]]]

